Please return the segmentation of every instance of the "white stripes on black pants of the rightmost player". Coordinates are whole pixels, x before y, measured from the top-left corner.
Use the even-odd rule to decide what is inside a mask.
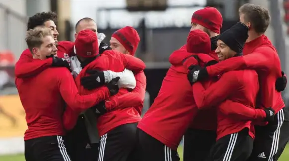
[[[277,129],[273,135],[273,142],[271,145],[271,151],[268,158],[268,161],[273,161],[273,156],[277,153],[278,144],[279,144],[279,136],[280,136],[280,127],[282,126],[284,121],[284,111],[281,109],[277,112]]]

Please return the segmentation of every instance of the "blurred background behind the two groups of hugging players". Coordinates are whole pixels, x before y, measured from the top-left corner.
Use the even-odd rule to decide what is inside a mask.
[[[141,37],[136,56],[147,65],[145,112],[170,66],[169,55],[186,43],[194,11],[206,6],[218,8],[224,19],[222,32],[239,21],[238,8],[244,3],[269,9],[271,25],[266,35],[278,50],[283,71],[289,75],[287,0],[0,0],[0,161],[25,161],[23,134],[27,126],[14,84],[14,65],[27,48],[24,39],[28,17],[43,11],[56,12],[59,41],[74,41],[74,26],[84,17],[96,21],[98,33],[106,35],[106,43],[117,29],[136,28]],[[283,92],[286,105],[288,89]],[[179,153],[182,156],[182,144]],[[289,161],[288,148],[279,161]]]

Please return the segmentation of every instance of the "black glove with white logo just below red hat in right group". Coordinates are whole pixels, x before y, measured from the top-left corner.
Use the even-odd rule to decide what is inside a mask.
[[[193,83],[195,83],[196,81],[201,81],[203,79],[208,78],[208,72],[206,68],[201,68],[198,65],[191,65],[188,68],[190,71],[187,74],[187,78],[189,80],[189,82],[191,83],[191,85],[193,85]]]

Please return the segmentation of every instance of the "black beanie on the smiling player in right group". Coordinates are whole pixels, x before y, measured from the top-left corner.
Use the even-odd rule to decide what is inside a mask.
[[[237,54],[242,54],[243,47],[248,38],[249,28],[238,22],[230,29],[226,30],[219,36],[219,40],[223,41],[228,47],[230,47]]]

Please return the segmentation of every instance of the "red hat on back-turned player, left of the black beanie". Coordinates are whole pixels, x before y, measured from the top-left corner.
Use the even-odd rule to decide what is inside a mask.
[[[211,51],[211,40],[207,33],[202,30],[189,32],[187,38],[187,52],[209,54]]]

